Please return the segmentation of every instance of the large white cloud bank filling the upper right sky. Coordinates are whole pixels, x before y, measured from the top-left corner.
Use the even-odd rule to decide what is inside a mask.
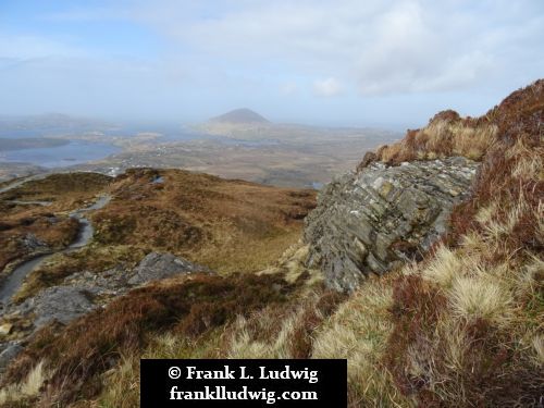
[[[530,0],[157,0],[133,15],[182,49],[254,71],[334,72],[363,95],[457,90],[507,78],[529,57],[544,66],[544,3]]]

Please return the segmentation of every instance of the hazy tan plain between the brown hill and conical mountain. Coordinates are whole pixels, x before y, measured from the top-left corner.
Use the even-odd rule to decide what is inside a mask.
[[[108,173],[135,166],[177,168],[226,178],[282,186],[312,187],[355,169],[364,152],[397,138],[393,133],[368,136],[299,138],[254,143],[247,140],[195,140],[148,144],[90,164],[75,166]]]

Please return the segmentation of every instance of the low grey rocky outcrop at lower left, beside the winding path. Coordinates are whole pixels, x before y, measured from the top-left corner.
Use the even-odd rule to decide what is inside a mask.
[[[76,272],[22,304],[0,304],[0,374],[39,327],[67,324],[148,282],[193,273],[214,272],[172,254],[151,252],[132,270]]]

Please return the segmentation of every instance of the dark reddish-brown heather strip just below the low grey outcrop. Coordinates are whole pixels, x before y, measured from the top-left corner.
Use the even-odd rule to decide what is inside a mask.
[[[152,333],[170,331],[197,338],[255,310],[282,304],[296,286],[280,275],[194,275],[137,288],[106,309],[91,312],[64,330],[47,326],[10,366],[2,387],[21,383],[45,360],[50,371],[42,405],[66,406],[96,397],[101,374],[120,357],[140,353]],[[89,335],[91,333],[92,335]]]

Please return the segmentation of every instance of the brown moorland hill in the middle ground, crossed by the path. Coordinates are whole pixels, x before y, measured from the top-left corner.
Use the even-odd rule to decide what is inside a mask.
[[[158,177],[161,183],[153,183]],[[0,206],[13,207],[5,217],[9,230],[0,231],[0,237],[13,243],[0,250],[4,263],[26,255],[21,238],[27,233],[52,249],[66,246],[77,233],[77,223],[67,218],[67,211],[86,207],[98,194],[110,194],[112,200],[87,215],[95,226],[91,244],[40,264],[26,279],[17,301],[60,284],[77,271],[134,268],[152,250],[186,257],[220,273],[257,271],[299,239],[302,219],[316,205],[313,190],[267,187],[177,170],[134,169],[115,180],[94,173],[58,174],[28,184],[7,195],[53,203],[13,207],[0,201]],[[48,227],[46,221],[35,227],[23,227],[17,221],[37,214],[46,221],[52,215],[63,221],[55,219]],[[66,231],[67,226],[72,230]]]

